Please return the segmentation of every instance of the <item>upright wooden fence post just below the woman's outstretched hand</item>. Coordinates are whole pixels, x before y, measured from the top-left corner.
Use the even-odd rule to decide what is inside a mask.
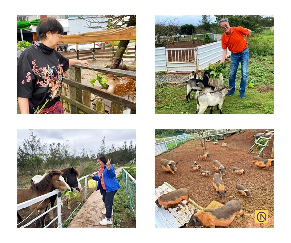
[[[81,69],[73,67],[73,66],[69,67],[69,79],[82,83]],[[70,86],[70,98],[80,103],[83,103],[82,90],[76,87]],[[71,114],[78,114],[78,108],[72,104],[71,104]]]

